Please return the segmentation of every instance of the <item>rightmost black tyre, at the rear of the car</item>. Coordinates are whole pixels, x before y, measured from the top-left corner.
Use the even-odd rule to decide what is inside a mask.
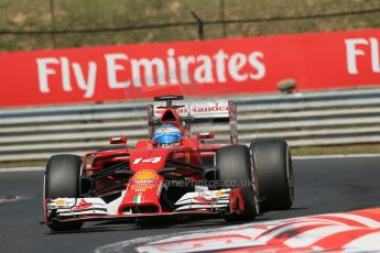
[[[290,209],[294,176],[289,145],[282,140],[253,141],[250,145],[260,189],[262,211]]]

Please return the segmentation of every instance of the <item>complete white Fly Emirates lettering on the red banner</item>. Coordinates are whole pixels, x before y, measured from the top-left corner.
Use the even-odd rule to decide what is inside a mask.
[[[36,58],[40,92],[53,92],[52,87],[56,90],[59,86],[63,91],[79,89],[84,98],[91,98],[97,86],[104,84],[109,89],[143,89],[243,82],[260,80],[267,72],[264,54],[258,51],[227,53],[219,48],[210,54],[185,55],[167,48],[163,57],[133,58],[127,53],[112,53],[104,54],[102,59],[76,63],[68,57]],[[106,81],[99,76],[106,76]]]

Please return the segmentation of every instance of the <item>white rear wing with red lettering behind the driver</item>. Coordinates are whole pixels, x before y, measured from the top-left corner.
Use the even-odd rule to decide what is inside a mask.
[[[231,144],[238,143],[237,109],[232,100],[180,101],[173,108],[181,120],[188,123],[228,122]],[[165,108],[162,103],[148,106],[149,134],[153,135],[153,125],[159,124]]]

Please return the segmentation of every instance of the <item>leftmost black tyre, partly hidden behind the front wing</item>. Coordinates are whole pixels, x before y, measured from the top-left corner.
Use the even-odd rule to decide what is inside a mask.
[[[46,164],[44,198],[80,197],[80,173],[83,161],[77,155],[53,155]],[[53,231],[78,230],[83,222],[47,221]]]

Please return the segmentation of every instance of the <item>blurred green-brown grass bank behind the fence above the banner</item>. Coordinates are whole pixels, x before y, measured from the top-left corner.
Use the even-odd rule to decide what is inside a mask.
[[[222,16],[220,0],[0,0],[0,30],[86,30],[194,22],[191,11],[204,21]],[[271,19],[316,15],[380,8],[378,0],[225,0],[225,19]],[[227,23],[227,36],[337,31],[380,26],[380,12],[324,19]],[[205,26],[206,38],[222,37],[221,24]],[[196,26],[140,31],[57,34],[57,47],[197,40]],[[1,35],[0,51],[54,47],[52,35]]]

